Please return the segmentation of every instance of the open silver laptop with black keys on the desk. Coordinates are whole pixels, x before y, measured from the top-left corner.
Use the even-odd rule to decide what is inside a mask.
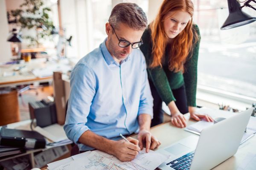
[[[233,156],[241,142],[253,108],[238,113],[157,152],[170,155],[160,170],[210,170]]]

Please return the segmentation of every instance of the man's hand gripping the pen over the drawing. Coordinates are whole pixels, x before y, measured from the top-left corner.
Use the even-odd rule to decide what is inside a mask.
[[[128,137],[127,140],[129,142],[122,139],[113,143],[113,155],[120,161],[131,161],[140,151],[139,141],[137,139]]]

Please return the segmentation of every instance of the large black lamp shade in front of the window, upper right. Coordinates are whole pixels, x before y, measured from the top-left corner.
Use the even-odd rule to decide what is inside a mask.
[[[229,15],[221,27],[221,30],[236,28],[256,21],[256,17],[251,17],[241,11],[241,6],[236,0],[227,0],[227,5]]]

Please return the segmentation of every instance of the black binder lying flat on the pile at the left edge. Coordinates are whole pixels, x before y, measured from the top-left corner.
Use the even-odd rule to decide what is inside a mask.
[[[44,148],[44,136],[36,131],[1,128],[0,145],[9,147]]]

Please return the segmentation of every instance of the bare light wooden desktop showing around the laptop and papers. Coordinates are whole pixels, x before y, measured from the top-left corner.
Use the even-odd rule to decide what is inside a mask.
[[[195,121],[190,119],[187,125],[189,126],[193,123],[195,123]],[[170,122],[152,127],[150,131],[162,143],[157,149],[166,147],[180,139],[186,138],[187,136],[195,135],[194,133],[187,132],[184,129],[174,127]],[[132,137],[137,138],[137,135]],[[212,170],[236,170],[249,152],[256,154],[256,136],[253,136],[251,139],[241,144],[234,156],[222,162]],[[47,168],[42,170],[47,170]]]

